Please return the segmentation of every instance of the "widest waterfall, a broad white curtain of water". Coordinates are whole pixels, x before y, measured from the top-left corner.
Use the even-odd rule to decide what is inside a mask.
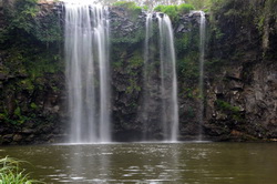
[[[86,1],[64,9],[70,142],[110,142],[109,11]]]

